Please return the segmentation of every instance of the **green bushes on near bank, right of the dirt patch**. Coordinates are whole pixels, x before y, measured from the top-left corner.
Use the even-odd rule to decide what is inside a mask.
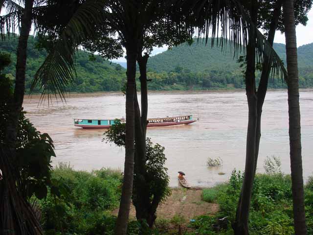
[[[234,170],[228,183],[203,190],[203,199],[220,205],[218,218],[228,216],[228,226],[221,234],[231,234],[243,174]],[[308,234],[313,234],[312,178],[305,188]],[[281,173],[257,174],[251,200],[249,228],[252,235],[293,235],[291,177]],[[192,227],[201,228],[200,234],[215,234],[211,217],[201,216]],[[229,232],[229,233],[228,233]]]

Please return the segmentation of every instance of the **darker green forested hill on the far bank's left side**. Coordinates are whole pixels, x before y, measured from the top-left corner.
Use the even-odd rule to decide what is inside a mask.
[[[12,59],[12,64],[3,72],[11,73],[13,76],[15,76],[17,44],[18,38],[11,37],[9,40],[2,41],[0,45],[0,51],[10,53]],[[45,60],[46,55],[45,50],[36,48],[34,37],[29,37],[26,91],[29,91],[32,78]],[[89,53],[82,50],[79,50],[76,56],[76,71],[77,79],[71,87],[68,87],[68,91],[71,92],[120,91],[126,79],[125,69],[120,65],[103,60],[100,56],[95,56],[95,60],[90,60]]]

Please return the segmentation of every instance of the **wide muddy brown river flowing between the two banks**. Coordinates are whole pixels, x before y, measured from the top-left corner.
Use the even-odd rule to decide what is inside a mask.
[[[193,115],[190,125],[148,128],[147,136],[165,147],[170,186],[177,187],[177,171],[186,173],[191,186],[209,187],[243,170],[246,154],[247,102],[245,91],[149,92],[149,118]],[[71,94],[67,103],[38,106],[39,97],[25,96],[24,110],[38,130],[48,133],[57,157],[52,164],[70,163],[74,169],[124,167],[122,148],[102,141],[104,130],[83,130],[73,118],[125,117],[120,93]],[[300,92],[303,174],[313,175],[313,90]],[[282,171],[290,173],[287,91],[268,91],[262,115],[258,172],[267,156],[277,156]],[[220,157],[223,165],[208,168],[206,161]],[[224,172],[224,175],[219,175]]]

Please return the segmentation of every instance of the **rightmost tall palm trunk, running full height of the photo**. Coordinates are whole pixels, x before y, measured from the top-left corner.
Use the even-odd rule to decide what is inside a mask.
[[[289,143],[291,161],[291,184],[293,200],[293,220],[295,235],[306,235],[304,211],[304,189],[301,156],[301,126],[299,105],[299,77],[297,58],[297,39],[293,0],[283,3],[284,25],[286,37],[286,55],[288,71],[288,111],[289,111]]]

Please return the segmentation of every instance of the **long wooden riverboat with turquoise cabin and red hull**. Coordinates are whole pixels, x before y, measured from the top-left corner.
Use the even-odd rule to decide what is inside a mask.
[[[125,118],[121,118],[120,121],[125,123]],[[192,115],[177,116],[177,117],[166,117],[166,118],[148,118],[147,127],[157,127],[157,126],[175,126],[190,124],[196,120],[192,119]],[[84,129],[109,129],[115,124],[114,119],[83,119],[74,118],[74,126],[82,127]]]

